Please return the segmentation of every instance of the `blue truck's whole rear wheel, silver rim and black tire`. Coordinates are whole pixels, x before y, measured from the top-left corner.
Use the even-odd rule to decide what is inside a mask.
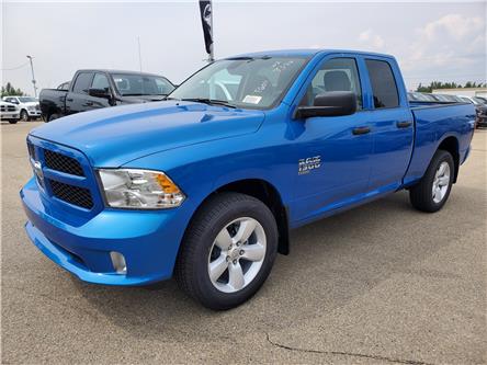
[[[438,150],[421,181],[409,190],[409,199],[419,210],[434,213],[446,203],[452,190],[455,166],[450,152]]]

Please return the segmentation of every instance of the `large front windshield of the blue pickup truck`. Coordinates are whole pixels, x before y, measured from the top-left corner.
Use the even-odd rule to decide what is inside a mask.
[[[203,68],[169,99],[268,109],[286,92],[305,65],[304,57],[242,57],[223,59]]]

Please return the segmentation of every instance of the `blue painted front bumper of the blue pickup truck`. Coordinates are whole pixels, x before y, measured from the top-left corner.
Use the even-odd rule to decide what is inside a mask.
[[[184,209],[103,209],[76,223],[53,212],[32,179],[20,192],[29,221],[25,230],[50,260],[80,280],[106,285],[145,285],[172,275],[189,216]],[[67,223],[69,221],[69,224]],[[124,255],[127,272],[117,274],[110,258]]]

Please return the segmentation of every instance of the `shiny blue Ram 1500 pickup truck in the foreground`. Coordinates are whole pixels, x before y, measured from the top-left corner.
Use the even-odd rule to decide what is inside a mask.
[[[33,129],[26,232],[80,280],[174,275],[228,309],[263,284],[290,229],[408,190],[437,212],[468,156],[475,110],[409,103],[394,57],[282,50],[217,60],[166,101]]]

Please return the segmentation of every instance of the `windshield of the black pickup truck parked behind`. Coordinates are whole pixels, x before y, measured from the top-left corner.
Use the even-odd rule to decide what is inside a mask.
[[[112,73],[123,96],[167,95],[174,87],[167,79],[150,75]]]

